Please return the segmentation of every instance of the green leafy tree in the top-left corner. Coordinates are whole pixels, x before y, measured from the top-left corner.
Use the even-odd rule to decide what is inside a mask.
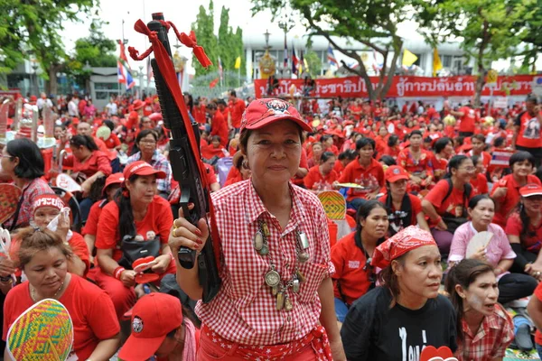
[[[3,0],[0,2],[0,71],[14,69],[31,55],[43,70],[46,90],[56,93],[56,73],[66,57],[59,32],[79,22],[98,0]]]

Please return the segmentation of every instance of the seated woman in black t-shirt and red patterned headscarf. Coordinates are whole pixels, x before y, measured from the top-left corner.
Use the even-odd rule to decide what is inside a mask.
[[[443,276],[433,236],[411,226],[375,249],[382,286],[355,301],[341,329],[350,361],[415,360],[425,346],[455,344],[455,312],[438,294]]]

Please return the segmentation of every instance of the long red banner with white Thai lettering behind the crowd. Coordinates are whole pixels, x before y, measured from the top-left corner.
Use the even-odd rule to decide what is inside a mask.
[[[531,92],[533,75],[499,77],[493,89],[494,96],[526,95]],[[430,77],[394,77],[386,97],[472,97],[476,86],[474,76],[430,78]],[[378,85],[378,77],[371,77],[373,85]],[[315,91],[311,97],[368,97],[365,81],[360,77],[315,79]],[[287,95],[292,85],[295,93],[302,93],[303,79],[279,79],[276,95]],[[256,97],[266,95],[267,80],[254,80]],[[509,94],[507,94],[509,93]],[[490,88],[484,86],[482,96],[490,95]]]

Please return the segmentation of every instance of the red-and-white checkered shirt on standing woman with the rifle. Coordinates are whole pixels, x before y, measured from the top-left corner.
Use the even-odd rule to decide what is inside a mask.
[[[222,287],[209,303],[199,301],[196,313],[222,338],[242,345],[283,344],[303,338],[318,324],[322,310],[318,287],[334,272],[327,222],[315,195],[291,183],[290,194],[292,211],[287,226],[281,230],[251,180],[211,193],[224,257]],[[264,281],[270,270],[269,255],[259,255],[253,245],[258,218],[269,227],[269,255],[283,282],[294,273],[296,229],[309,239],[310,259],[300,264],[306,281],[301,283],[298,294],[291,289],[287,292],[293,310],[276,310],[276,297]]]

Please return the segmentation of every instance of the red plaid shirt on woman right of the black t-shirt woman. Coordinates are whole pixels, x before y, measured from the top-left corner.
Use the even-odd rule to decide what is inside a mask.
[[[514,324],[506,310],[497,304],[491,316],[481,322],[476,335],[463,319],[463,342],[458,342],[455,356],[459,361],[491,361],[504,357],[506,347],[514,339]]]

